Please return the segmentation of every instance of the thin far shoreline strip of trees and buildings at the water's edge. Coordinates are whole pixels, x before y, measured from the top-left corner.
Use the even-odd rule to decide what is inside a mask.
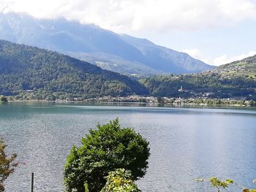
[[[35,102],[35,103],[54,103],[54,104],[138,104],[138,105],[157,105],[157,106],[197,106],[197,107],[256,107],[255,101],[246,101],[244,99],[181,99],[181,98],[166,98],[166,97],[143,97],[143,96],[127,96],[127,97],[100,97],[90,99],[56,99],[37,100],[37,99],[10,99],[8,102]]]

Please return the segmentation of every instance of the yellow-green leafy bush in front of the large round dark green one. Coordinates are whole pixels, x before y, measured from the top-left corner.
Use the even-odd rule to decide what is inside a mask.
[[[139,192],[137,185],[132,180],[132,172],[125,169],[116,169],[106,177],[107,183],[101,192]]]

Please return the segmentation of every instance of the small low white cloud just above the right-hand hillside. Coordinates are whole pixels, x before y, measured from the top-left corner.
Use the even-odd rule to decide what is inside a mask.
[[[244,53],[244,54],[241,54],[241,55],[236,55],[236,56],[231,56],[231,57],[229,57],[227,55],[221,55],[218,58],[214,59],[213,64],[216,65],[216,66],[219,66],[219,65],[222,65],[222,64],[229,64],[233,61],[239,61],[243,58],[247,58],[247,57],[250,57],[250,56],[253,56],[253,55],[256,55],[255,50],[252,50],[249,53]]]

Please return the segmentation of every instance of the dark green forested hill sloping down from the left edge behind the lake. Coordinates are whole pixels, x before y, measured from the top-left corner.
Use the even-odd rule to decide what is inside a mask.
[[[35,99],[127,96],[148,91],[139,82],[37,47],[0,40],[0,94]]]

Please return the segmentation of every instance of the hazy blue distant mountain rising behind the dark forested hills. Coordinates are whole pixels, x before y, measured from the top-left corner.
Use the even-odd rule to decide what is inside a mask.
[[[42,20],[0,13],[0,39],[71,55],[102,69],[134,76],[203,72],[213,68],[187,53],[147,39],[115,34],[94,24],[64,18]]]

